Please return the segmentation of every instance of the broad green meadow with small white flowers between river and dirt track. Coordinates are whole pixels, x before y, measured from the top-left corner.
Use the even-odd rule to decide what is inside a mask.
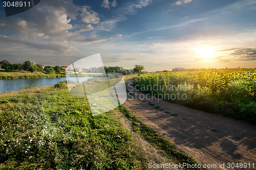
[[[139,169],[129,130],[113,111],[92,116],[65,82],[0,94],[0,169]]]

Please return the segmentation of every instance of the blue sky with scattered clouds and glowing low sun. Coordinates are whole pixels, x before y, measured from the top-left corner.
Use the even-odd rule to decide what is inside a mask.
[[[100,53],[104,66],[146,71],[255,68],[255,0],[41,0],[7,17],[0,60],[70,65]]]

